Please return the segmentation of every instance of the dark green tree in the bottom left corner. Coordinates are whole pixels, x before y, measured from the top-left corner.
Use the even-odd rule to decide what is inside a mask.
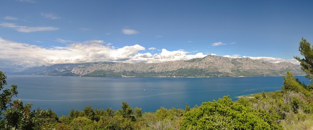
[[[9,89],[6,75],[0,71],[0,130],[33,130],[37,123],[35,111],[31,111],[32,104],[23,106],[21,100],[12,102],[12,97],[17,96],[17,85],[12,85]]]

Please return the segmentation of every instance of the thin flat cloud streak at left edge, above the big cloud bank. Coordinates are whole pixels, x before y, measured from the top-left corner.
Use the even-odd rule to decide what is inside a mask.
[[[15,23],[0,23],[0,26],[14,28],[15,30],[22,33],[59,30],[59,28],[57,27],[28,27],[28,26],[18,26],[15,25]]]

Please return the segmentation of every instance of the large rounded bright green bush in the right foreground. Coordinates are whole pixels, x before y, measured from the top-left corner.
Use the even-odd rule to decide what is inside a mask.
[[[181,130],[273,130],[280,126],[271,120],[271,114],[252,109],[229,96],[218,101],[204,102],[198,109],[185,114]]]

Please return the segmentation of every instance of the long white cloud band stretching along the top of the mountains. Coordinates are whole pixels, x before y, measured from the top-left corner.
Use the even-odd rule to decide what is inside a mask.
[[[42,65],[53,65],[63,63],[85,63],[97,61],[127,62],[127,63],[160,63],[176,60],[189,60],[192,58],[202,58],[207,55],[197,53],[191,55],[184,50],[167,51],[162,49],[161,53],[139,53],[146,50],[141,45],[124,46],[114,48],[106,44],[103,40],[88,40],[82,43],[72,43],[65,47],[43,48],[37,45],[19,43],[6,40],[0,37],[0,67],[35,67]],[[214,54],[211,54],[214,55]],[[226,56],[238,58],[238,55]],[[243,56],[248,57],[248,56]],[[263,59],[269,62],[292,62],[293,59],[282,59],[274,57],[250,57],[251,59]]]

